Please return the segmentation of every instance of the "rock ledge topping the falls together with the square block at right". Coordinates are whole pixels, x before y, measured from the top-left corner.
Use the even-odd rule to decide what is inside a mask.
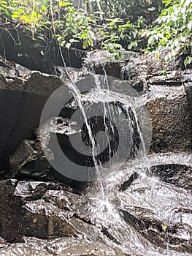
[[[126,80],[125,86],[147,96],[153,125],[151,151],[191,151],[191,69],[182,71],[183,56],[164,67],[165,56],[166,51],[159,58],[153,53],[125,52],[118,62],[107,51],[96,50],[85,58],[85,66],[96,74],[106,70],[107,75]],[[161,75],[164,68],[166,76]]]

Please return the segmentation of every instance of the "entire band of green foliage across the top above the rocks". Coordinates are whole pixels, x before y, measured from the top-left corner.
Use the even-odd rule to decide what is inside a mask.
[[[191,0],[164,0],[164,9],[161,0],[74,1],[0,0],[0,15],[33,39],[56,37],[66,48],[107,49],[118,60],[122,48],[141,50],[148,40],[145,52],[166,48],[166,61],[185,54],[185,67],[192,62]]]

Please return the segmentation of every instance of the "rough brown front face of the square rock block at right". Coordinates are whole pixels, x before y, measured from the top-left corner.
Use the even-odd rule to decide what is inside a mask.
[[[153,126],[152,151],[191,151],[191,114],[185,95],[154,99],[147,108]]]

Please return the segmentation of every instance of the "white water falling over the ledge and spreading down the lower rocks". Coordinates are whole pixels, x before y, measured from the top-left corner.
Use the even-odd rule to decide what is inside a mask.
[[[110,86],[108,83],[107,74],[105,72],[105,84],[107,84],[107,87],[103,86],[102,80],[99,80],[99,76],[94,75],[94,72],[92,72],[95,80],[95,89],[94,92],[91,91],[91,94],[85,94],[81,95],[80,90],[77,88],[77,86],[72,82],[70,89],[72,91],[72,94],[74,96],[74,99],[77,101],[77,104],[81,110],[82,116],[85,120],[85,126],[88,131],[88,138],[91,140],[91,150],[92,150],[92,157],[94,166],[96,168],[96,179],[97,181],[94,182],[94,184],[91,185],[90,189],[88,191],[84,192],[84,197],[82,201],[80,202],[80,205],[76,206],[79,208],[80,214],[86,217],[91,217],[91,222],[96,223],[96,226],[100,227],[106,227],[107,232],[110,234],[110,239],[115,242],[117,246],[120,247],[120,249],[123,249],[123,252],[126,253],[134,253],[134,255],[151,255],[151,256],[160,256],[160,255],[172,255],[176,256],[178,255],[177,252],[172,251],[169,249],[169,241],[167,242],[167,248],[166,249],[160,249],[153,244],[150,243],[150,241],[147,241],[141,234],[139,234],[138,230],[135,230],[135,228],[128,222],[126,222],[126,219],[122,217],[121,209],[126,208],[126,206],[130,207],[130,203],[133,203],[133,206],[136,205],[136,201],[142,204],[144,204],[145,208],[154,208],[158,206],[158,203],[154,200],[155,197],[160,198],[161,197],[161,204],[162,206],[169,206],[169,203],[172,202],[172,200],[177,199],[177,192],[172,192],[171,195],[167,198],[167,202],[163,203],[164,200],[166,200],[165,197],[162,197],[161,193],[159,194],[158,189],[155,189],[155,187],[162,186],[161,183],[159,183],[158,178],[148,177],[147,172],[150,170],[150,164],[147,162],[145,151],[145,139],[143,138],[142,129],[139,124],[139,119],[137,116],[137,111],[134,108],[134,105],[131,105],[130,102],[127,101],[127,99],[124,99],[122,97],[118,96],[118,93],[115,94],[117,102],[123,102],[123,110],[126,112],[127,121],[130,126],[131,130],[131,137],[130,140],[133,142],[134,140],[134,126],[137,129],[137,136],[139,137],[139,147],[136,148],[136,154],[134,156],[134,160],[130,163],[127,163],[122,167],[120,170],[118,169],[118,165],[115,167],[115,165],[112,165],[111,168],[115,170],[111,170],[112,176],[101,178],[101,172],[102,166],[101,163],[99,165],[98,159],[96,156],[99,154],[99,148],[96,147],[96,141],[93,135],[93,131],[91,129],[91,124],[88,122],[88,118],[86,115],[86,110],[84,107],[84,103],[88,100],[91,100],[93,102],[102,102],[103,110],[104,110],[104,126],[105,126],[105,133],[107,135],[107,142],[110,145],[110,135],[109,135],[109,128],[106,124],[106,118],[107,113],[110,114],[111,119],[113,120],[115,113],[113,112],[113,109],[110,108],[110,98],[114,97],[114,94],[111,94]],[[118,98],[119,97],[119,98]],[[131,115],[130,115],[131,110]],[[122,107],[120,108],[118,106],[119,113],[122,112]],[[134,119],[134,121],[133,121]],[[112,129],[112,132],[114,131],[114,127],[110,127]],[[110,153],[112,152],[113,148],[110,146]],[[146,164],[145,168],[143,167],[143,164]],[[146,170],[147,168],[147,170]],[[139,198],[137,195],[137,192],[134,192],[134,195],[131,195],[131,189],[128,191],[130,192],[130,200],[127,200],[126,198],[129,197],[126,195],[126,197],[123,195],[123,193],[118,192],[118,189],[120,187],[120,183],[122,184],[123,180],[125,180],[126,176],[131,175],[131,173],[136,172],[139,174],[139,177],[141,179],[141,182],[143,183],[144,187],[150,188],[147,190],[146,195],[142,198]],[[137,187],[139,189],[139,186],[137,184],[135,185],[136,191]],[[143,187],[141,186],[141,189]],[[145,188],[146,189],[146,188]],[[166,187],[164,187],[164,192],[168,192]],[[185,193],[185,192],[183,192]],[[101,197],[99,197],[101,195]],[[186,196],[186,201],[191,200],[191,197]],[[150,202],[150,197],[152,197],[153,201]],[[127,201],[126,201],[127,200]],[[145,200],[147,203],[145,203]],[[177,201],[177,200],[176,200]],[[176,202],[175,201],[175,202]],[[186,202],[185,202],[186,203]],[[183,207],[185,206],[185,203],[183,203]],[[83,208],[82,208],[83,206]],[[166,206],[166,207],[167,207]],[[177,205],[176,205],[177,206]],[[166,214],[164,211],[161,211],[161,205],[158,206],[160,209],[158,211],[155,211],[155,213],[160,218],[160,222],[166,223],[168,222]],[[166,234],[165,234],[166,236]],[[180,254],[183,255],[183,254]]]

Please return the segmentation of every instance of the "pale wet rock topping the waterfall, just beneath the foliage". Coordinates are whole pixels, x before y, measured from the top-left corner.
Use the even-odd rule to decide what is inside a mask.
[[[147,66],[145,56],[141,53],[123,51],[120,61],[107,50],[93,50],[84,60],[84,67],[99,75],[109,75],[126,80],[128,86],[142,91],[146,83]]]

